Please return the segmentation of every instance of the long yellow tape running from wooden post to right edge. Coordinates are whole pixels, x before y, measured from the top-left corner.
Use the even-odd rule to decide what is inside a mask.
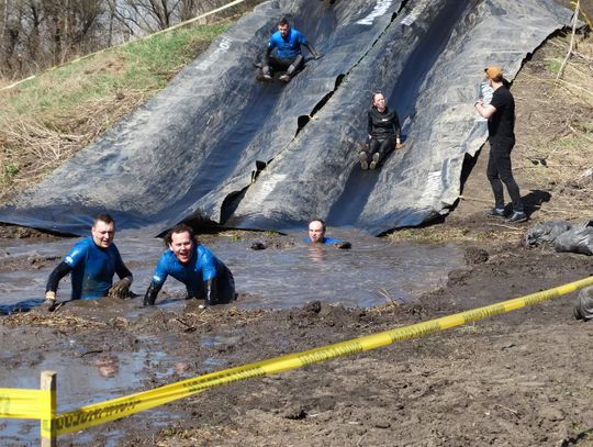
[[[363,350],[376,349],[391,345],[395,342],[415,338],[478,320],[483,320],[489,316],[511,312],[526,305],[533,305],[541,301],[571,293],[589,286],[593,286],[593,277],[545,290],[542,292],[532,293],[522,298],[515,298],[513,300],[443,316],[411,326],[399,327],[351,340],[336,343],[334,345],[322,346],[301,353],[289,354],[268,360],[211,372],[209,375],[155,388],[153,390],[83,406],[59,414],[56,417],[57,434],[71,433],[108,421],[128,416],[144,410],[205,391],[213,387],[302,368],[306,365],[348,356]]]

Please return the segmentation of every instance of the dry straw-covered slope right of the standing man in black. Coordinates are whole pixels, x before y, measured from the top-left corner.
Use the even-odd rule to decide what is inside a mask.
[[[593,43],[578,37],[556,81],[569,40],[548,41],[513,85],[519,111],[514,168],[518,178],[552,194],[553,206],[542,212],[557,216],[591,212],[593,203]]]

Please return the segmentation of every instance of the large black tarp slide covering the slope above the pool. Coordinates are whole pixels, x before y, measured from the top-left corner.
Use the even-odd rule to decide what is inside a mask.
[[[283,15],[323,57],[287,86],[257,83],[253,64]],[[551,0],[264,3],[0,221],[74,234],[98,211],[120,228],[289,230],[313,215],[371,234],[419,224],[457,200],[463,157],[485,141],[472,107],[483,67],[513,79],[569,19]],[[406,147],[361,171],[377,89],[405,123]]]

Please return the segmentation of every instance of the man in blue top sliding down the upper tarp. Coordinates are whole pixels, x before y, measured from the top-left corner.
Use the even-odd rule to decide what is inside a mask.
[[[264,53],[258,79],[271,81],[273,79],[273,71],[276,70],[284,71],[280,76],[280,80],[290,82],[294,75],[304,67],[304,56],[301,53],[301,46],[305,46],[315,59],[321,57],[303,33],[291,27],[289,21],[282,18],[278,22],[278,31],[271,35]],[[273,49],[276,49],[276,53],[272,53]]]

